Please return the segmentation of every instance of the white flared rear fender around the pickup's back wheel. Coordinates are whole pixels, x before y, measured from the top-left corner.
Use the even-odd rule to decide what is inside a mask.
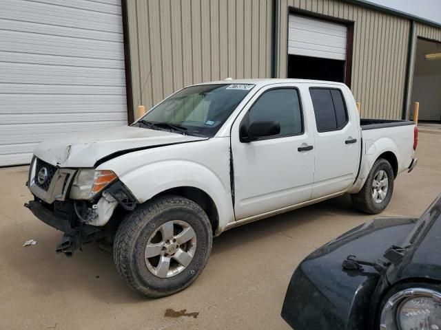
[[[388,151],[393,153],[398,160],[398,164],[400,164],[398,146],[390,137],[380,137],[378,140],[365,140],[363,151],[365,152],[362,154],[360,162],[360,173],[353,186],[348,190],[351,194],[357,193],[361,190],[371,172],[373,164],[383,153]]]

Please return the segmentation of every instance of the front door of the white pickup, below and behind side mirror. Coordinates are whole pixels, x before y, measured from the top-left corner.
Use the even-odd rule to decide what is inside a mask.
[[[315,150],[307,148],[309,150],[299,151],[298,148],[313,146],[314,135],[303,128],[305,120],[303,124],[299,122],[302,121],[300,112],[287,117],[286,111],[291,106],[278,104],[286,98],[277,96],[258,103],[259,98],[262,101],[265,92],[271,93],[274,89],[275,87],[266,88],[258,93],[250,102],[252,106],[244,109],[232,127],[236,219],[278,210],[311,198]],[[271,104],[274,100],[278,102]],[[262,111],[258,106],[262,103],[269,115],[262,112],[250,115],[249,110]],[[300,110],[300,102],[294,102],[293,106]],[[285,110],[282,111],[282,108]],[[252,121],[253,118],[276,121],[283,119],[281,135],[249,143],[240,142],[240,124],[247,120]],[[295,133],[297,134],[294,135]]]

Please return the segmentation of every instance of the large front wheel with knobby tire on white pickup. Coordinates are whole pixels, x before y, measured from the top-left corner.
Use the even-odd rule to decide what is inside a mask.
[[[180,196],[158,197],[127,214],[116,231],[114,263],[136,292],[152,298],[169,296],[201,274],[212,241],[212,226],[198,204]],[[151,248],[146,249],[147,243]]]

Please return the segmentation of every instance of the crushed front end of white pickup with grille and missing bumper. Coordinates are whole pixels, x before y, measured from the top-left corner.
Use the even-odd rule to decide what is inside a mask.
[[[60,168],[34,157],[27,186],[34,200],[25,207],[64,232],[56,251],[68,256],[84,243],[112,236],[110,218],[118,206],[136,207],[132,193],[110,170]]]

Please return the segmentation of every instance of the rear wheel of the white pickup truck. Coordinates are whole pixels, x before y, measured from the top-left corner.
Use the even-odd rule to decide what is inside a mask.
[[[373,184],[374,180],[378,179],[377,176],[379,173],[383,173],[382,182],[380,185],[384,184],[384,174],[387,175],[387,186],[386,192],[384,193],[384,186],[378,186],[381,189],[384,197],[380,197],[380,194],[377,194],[377,199],[374,198],[373,192]],[[378,182],[378,180],[376,180]],[[378,190],[379,191],[379,190]],[[365,184],[361,188],[361,190],[351,195],[353,206],[355,206],[358,210],[368,213],[368,214],[378,214],[382,212],[389,205],[389,201],[391,201],[393,193],[393,169],[391,164],[386,159],[379,158],[373,163],[371,171],[366,179]]]

